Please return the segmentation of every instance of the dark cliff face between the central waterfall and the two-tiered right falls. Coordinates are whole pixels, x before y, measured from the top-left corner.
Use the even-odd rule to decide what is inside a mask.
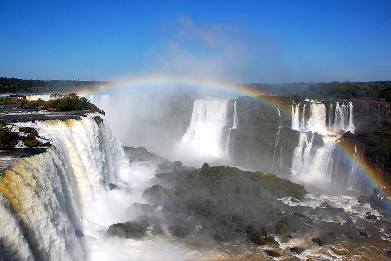
[[[232,158],[240,166],[283,174],[290,167],[299,133],[291,129],[289,96],[237,99],[238,127],[232,130]]]

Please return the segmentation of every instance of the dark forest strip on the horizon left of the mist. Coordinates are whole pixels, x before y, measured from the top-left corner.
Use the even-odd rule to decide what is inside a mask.
[[[60,81],[60,80],[23,80],[0,77],[0,93],[69,93],[80,89],[95,90],[110,82],[100,81]]]

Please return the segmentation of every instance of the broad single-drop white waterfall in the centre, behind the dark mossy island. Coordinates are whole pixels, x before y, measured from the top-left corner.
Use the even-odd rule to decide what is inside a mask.
[[[179,148],[194,158],[219,159],[227,156],[228,100],[195,100],[190,125],[179,142]]]

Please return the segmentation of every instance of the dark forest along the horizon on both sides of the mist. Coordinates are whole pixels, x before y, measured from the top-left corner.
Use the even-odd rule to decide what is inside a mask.
[[[0,93],[49,93],[76,92],[80,89],[95,91],[113,84],[109,81],[75,80],[25,80],[0,77]],[[238,84],[265,95],[301,95],[304,97],[326,99],[378,99],[391,102],[391,80],[389,81],[331,81],[319,83],[284,84]]]

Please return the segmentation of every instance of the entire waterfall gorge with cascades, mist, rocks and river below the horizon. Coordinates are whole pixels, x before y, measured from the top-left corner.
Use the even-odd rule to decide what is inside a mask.
[[[174,85],[1,96],[1,260],[387,257],[388,102]]]

